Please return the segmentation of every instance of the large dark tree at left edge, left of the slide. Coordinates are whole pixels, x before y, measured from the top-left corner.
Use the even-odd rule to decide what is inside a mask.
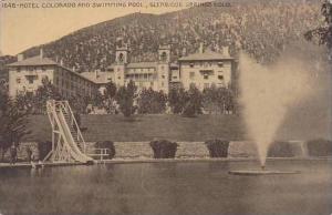
[[[18,102],[8,95],[7,89],[0,85],[0,149],[1,160],[11,145],[29,134],[27,129],[28,111],[21,110]]]

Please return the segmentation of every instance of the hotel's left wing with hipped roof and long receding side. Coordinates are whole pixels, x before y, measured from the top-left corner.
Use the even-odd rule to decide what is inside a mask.
[[[15,96],[19,93],[34,93],[43,83],[49,80],[63,98],[71,96],[93,96],[97,85],[62,64],[44,58],[38,57],[23,59],[18,57],[18,62],[8,64],[9,69],[9,94]]]

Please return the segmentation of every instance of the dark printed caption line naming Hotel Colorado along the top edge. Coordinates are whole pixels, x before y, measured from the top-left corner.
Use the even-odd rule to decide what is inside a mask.
[[[230,7],[229,2],[200,1],[124,1],[124,2],[14,2],[0,0],[1,8],[39,9],[39,8],[188,8],[188,7]]]

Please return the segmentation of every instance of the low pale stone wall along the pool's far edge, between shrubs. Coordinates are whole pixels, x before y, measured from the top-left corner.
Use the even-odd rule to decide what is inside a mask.
[[[209,151],[204,142],[177,142],[178,147],[175,157],[176,158],[208,158]],[[94,152],[95,142],[87,143],[87,152]],[[34,157],[39,157],[38,144],[35,142],[21,143],[18,149],[19,160],[27,160],[27,147],[33,152]],[[153,158],[154,154],[149,146],[149,142],[115,142],[115,157],[122,160],[144,160]],[[269,150],[269,154],[272,157],[308,157],[308,156],[325,156],[325,154],[311,155],[308,152],[308,145],[303,141],[288,141],[282,144],[276,144]],[[313,146],[311,146],[313,147]],[[315,144],[314,149],[320,147],[320,144]],[[325,147],[325,146],[324,146]],[[330,149],[330,147],[329,147]],[[321,150],[321,149],[320,149]],[[322,151],[322,150],[321,150]],[[286,153],[287,152],[287,153]],[[317,151],[320,152],[320,151]],[[321,153],[321,152],[320,152]],[[228,157],[257,157],[256,145],[249,141],[231,141],[228,149]],[[6,153],[6,158],[10,158],[9,151]]]

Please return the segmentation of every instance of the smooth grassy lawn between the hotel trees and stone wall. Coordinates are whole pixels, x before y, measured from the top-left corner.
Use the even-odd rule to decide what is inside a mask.
[[[243,140],[245,126],[237,115],[82,115],[85,141],[138,142],[153,139],[206,141],[210,139]],[[24,141],[51,140],[51,125],[44,115],[30,117],[32,133]]]

